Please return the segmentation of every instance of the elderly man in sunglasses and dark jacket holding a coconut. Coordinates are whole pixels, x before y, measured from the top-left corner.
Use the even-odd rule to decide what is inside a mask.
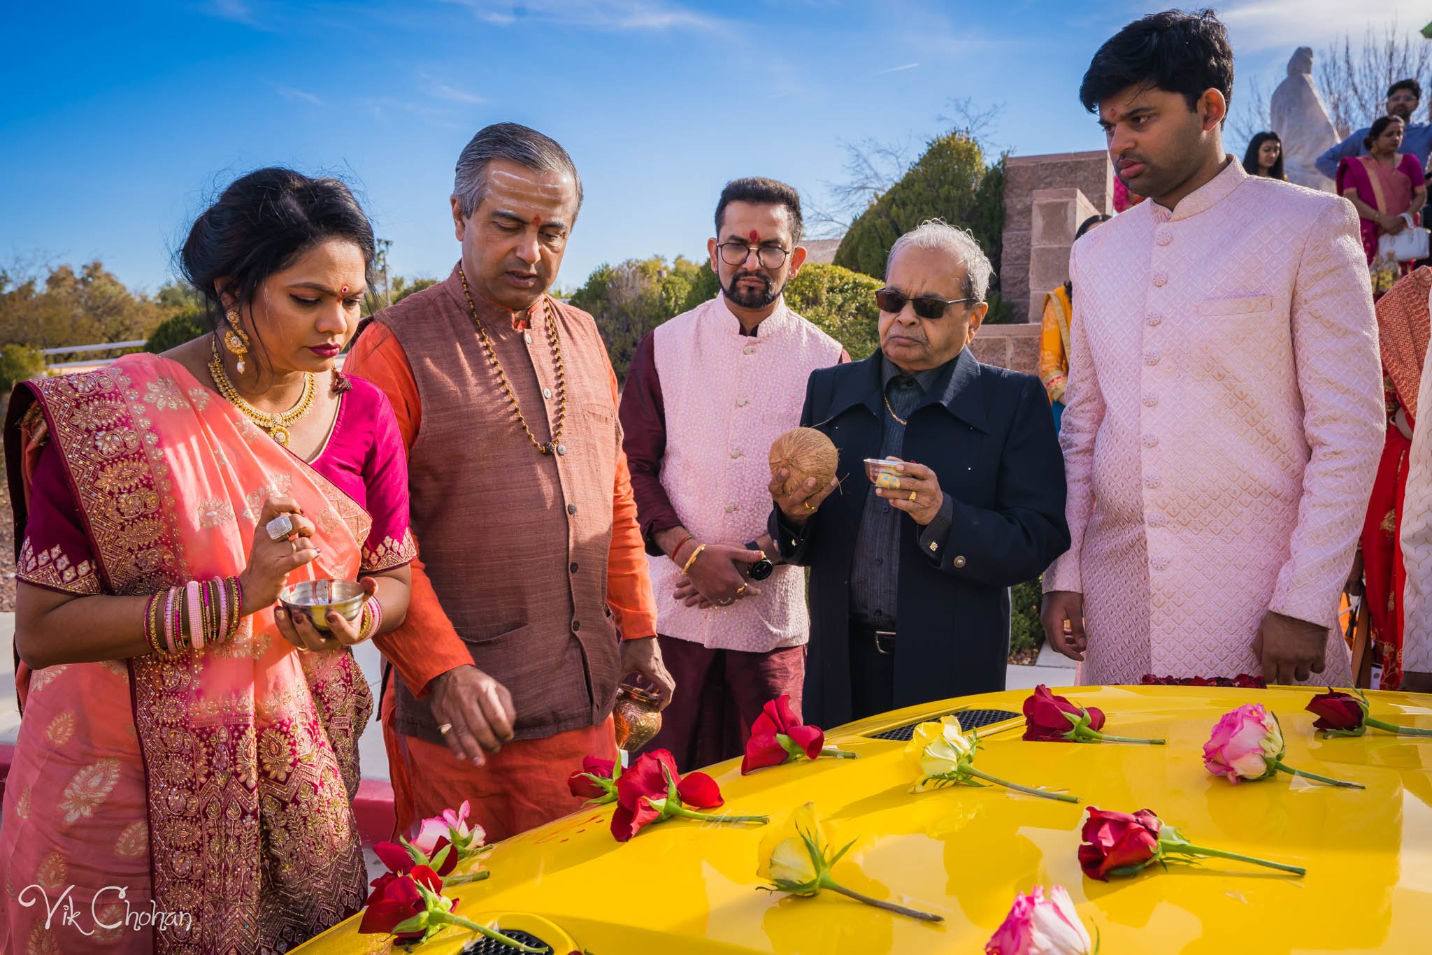
[[[1008,588],[1070,546],[1044,388],[967,348],[990,272],[944,222],[901,236],[875,294],[881,351],[806,384],[800,424],[835,441],[839,477],[782,494],[779,472],[770,531],[782,557],[811,567],[813,723],[1002,690]],[[902,460],[895,487],[866,481],[863,458]]]

